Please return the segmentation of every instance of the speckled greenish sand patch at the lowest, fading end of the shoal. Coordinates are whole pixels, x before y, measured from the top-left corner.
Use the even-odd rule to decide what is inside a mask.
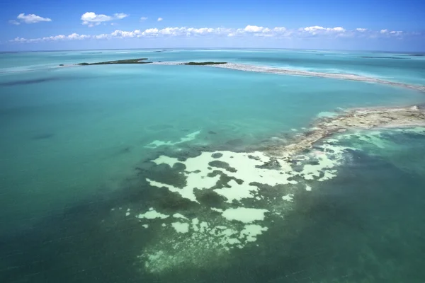
[[[217,262],[225,265],[230,250],[244,248],[267,231],[266,227],[254,224],[236,229],[232,225],[212,226],[198,219],[191,222],[192,226],[181,222],[172,224],[174,229],[164,230],[159,241],[145,248],[138,258],[145,262],[148,272],[160,273],[184,267],[206,268]]]

